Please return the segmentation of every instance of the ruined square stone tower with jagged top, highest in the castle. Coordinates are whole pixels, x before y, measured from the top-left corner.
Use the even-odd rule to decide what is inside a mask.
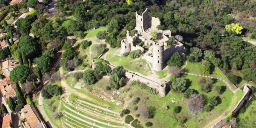
[[[136,12],[136,28],[138,32],[144,32],[146,29],[150,28],[150,18],[148,16],[148,8],[141,14],[141,16]]]

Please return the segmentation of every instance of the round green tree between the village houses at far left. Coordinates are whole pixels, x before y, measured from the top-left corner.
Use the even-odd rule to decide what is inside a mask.
[[[10,80],[13,82],[24,83],[26,80],[30,80],[31,75],[27,66],[19,65],[10,71]]]

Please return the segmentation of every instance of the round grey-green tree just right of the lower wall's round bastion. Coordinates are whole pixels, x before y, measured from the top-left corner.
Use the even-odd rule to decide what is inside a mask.
[[[176,78],[172,81],[171,88],[174,92],[183,92],[186,90],[186,82],[184,78]]]

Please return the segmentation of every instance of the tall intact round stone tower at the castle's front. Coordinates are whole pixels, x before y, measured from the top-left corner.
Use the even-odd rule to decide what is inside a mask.
[[[164,42],[155,42],[153,44],[153,70],[163,70]]]

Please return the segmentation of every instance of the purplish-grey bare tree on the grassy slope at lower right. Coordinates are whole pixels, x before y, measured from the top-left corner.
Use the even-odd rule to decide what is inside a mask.
[[[187,102],[188,109],[194,115],[203,112],[204,101],[201,95],[192,94]]]

